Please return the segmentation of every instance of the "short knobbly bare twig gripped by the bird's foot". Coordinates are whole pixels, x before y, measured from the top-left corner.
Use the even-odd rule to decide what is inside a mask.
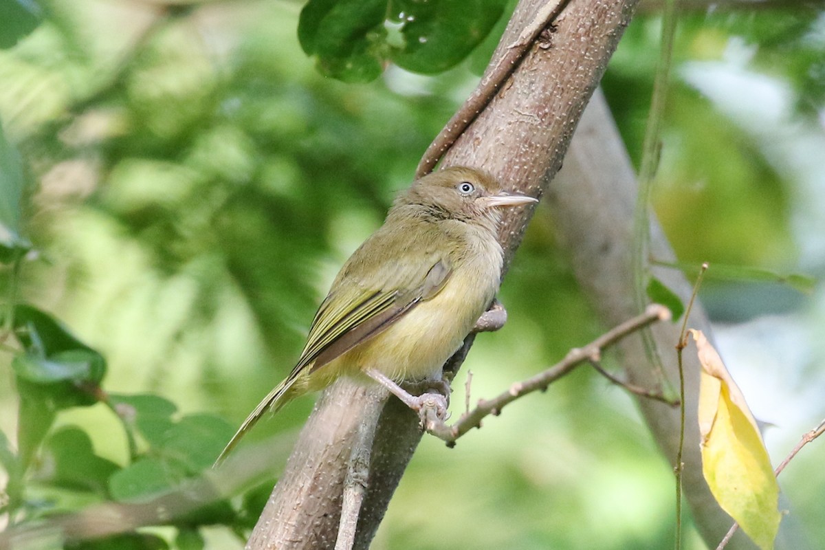
[[[651,304],[642,315],[621,323],[583,348],[570,350],[563,360],[554,364],[544,372],[536,374],[532,378],[527,378],[522,382],[513,383],[507,392],[502,393],[490,401],[479,400],[479,404],[473,411],[462,415],[453,425],[446,425],[443,420],[436,416],[435,410],[427,409],[425,411],[425,429],[439,439],[445,440],[448,446],[453,446],[455,440],[459,439],[469,430],[480,427],[481,421],[485,416],[491,414],[497,416],[508,403],[515,401],[527,393],[546,389],[550,383],[568,374],[579,364],[585,363],[588,360],[597,360],[601,356],[602,350],[612,346],[625,336],[643,327],[648,327],[648,325],[653,324],[653,322],[664,321],[670,317],[670,310],[658,303]]]

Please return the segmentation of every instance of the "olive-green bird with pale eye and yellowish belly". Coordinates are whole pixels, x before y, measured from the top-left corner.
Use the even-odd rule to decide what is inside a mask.
[[[536,202],[508,195],[492,176],[450,167],[413,182],[338,273],[290,375],[252,411],[221,461],[266,411],[342,375],[386,386],[441,378],[441,367],[493,302],[503,252],[501,208]]]

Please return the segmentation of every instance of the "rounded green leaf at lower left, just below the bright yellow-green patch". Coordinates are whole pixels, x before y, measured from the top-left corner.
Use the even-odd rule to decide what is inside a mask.
[[[51,458],[54,485],[108,495],[109,477],[120,467],[95,454],[92,440],[83,430],[67,426],[45,443],[44,454]]]

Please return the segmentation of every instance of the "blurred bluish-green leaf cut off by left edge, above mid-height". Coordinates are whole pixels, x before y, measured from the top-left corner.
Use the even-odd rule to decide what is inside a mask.
[[[7,0],[0,2],[0,30],[6,27],[3,11]],[[15,3],[15,2],[12,2]],[[0,47],[2,47],[0,31]],[[25,179],[23,164],[16,148],[6,139],[0,125],[0,261],[14,261],[31,248],[31,242],[21,237],[22,198]]]

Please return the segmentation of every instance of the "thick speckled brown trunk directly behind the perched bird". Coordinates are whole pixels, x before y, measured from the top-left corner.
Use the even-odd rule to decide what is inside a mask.
[[[493,59],[502,56],[544,4],[522,0]],[[627,26],[635,0],[572,0],[526,55],[445,164],[484,167],[505,188],[540,195],[555,172],[587,100]],[[503,224],[502,246],[512,258],[532,215],[519,209]],[[472,337],[455,362],[460,364]],[[331,548],[337,534],[342,482],[354,427],[369,408],[367,394],[347,380],[324,393],[299,438],[247,548]],[[367,548],[421,433],[417,417],[390,399],[379,420],[370,487],[361,510],[356,548]]]

